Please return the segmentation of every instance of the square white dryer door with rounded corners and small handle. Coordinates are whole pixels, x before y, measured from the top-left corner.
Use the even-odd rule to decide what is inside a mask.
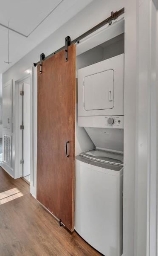
[[[104,70],[84,78],[85,111],[114,107],[114,72]]]

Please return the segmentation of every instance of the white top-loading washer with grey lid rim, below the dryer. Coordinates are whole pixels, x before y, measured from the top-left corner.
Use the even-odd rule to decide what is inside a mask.
[[[105,256],[122,254],[123,154],[76,157],[75,230]]]

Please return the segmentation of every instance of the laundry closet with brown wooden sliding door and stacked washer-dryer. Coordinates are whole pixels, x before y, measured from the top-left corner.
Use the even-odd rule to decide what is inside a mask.
[[[100,253],[121,256],[124,19],[68,41],[38,63],[37,200]]]

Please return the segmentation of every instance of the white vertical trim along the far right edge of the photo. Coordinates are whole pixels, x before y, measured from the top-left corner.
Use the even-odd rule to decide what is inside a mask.
[[[147,174],[147,255],[157,256],[158,219],[158,34],[157,11],[150,1],[150,166]],[[155,24],[156,23],[156,24]]]

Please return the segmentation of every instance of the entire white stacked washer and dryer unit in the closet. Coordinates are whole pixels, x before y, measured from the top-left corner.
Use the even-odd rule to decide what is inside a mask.
[[[78,125],[95,146],[76,156],[75,230],[105,256],[121,256],[124,54],[78,70]]]

